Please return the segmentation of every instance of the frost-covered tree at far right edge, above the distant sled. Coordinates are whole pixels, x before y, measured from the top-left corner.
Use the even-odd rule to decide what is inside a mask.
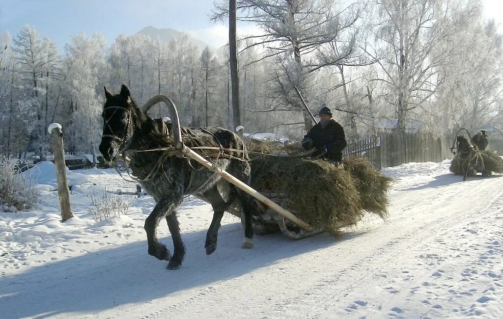
[[[445,81],[439,92],[439,107],[432,116],[438,126],[446,129],[464,127],[475,131],[488,124],[500,124],[502,35],[494,21],[482,21],[476,14],[481,9],[470,9],[474,15],[462,27],[463,32],[452,37],[454,52],[441,68]]]

